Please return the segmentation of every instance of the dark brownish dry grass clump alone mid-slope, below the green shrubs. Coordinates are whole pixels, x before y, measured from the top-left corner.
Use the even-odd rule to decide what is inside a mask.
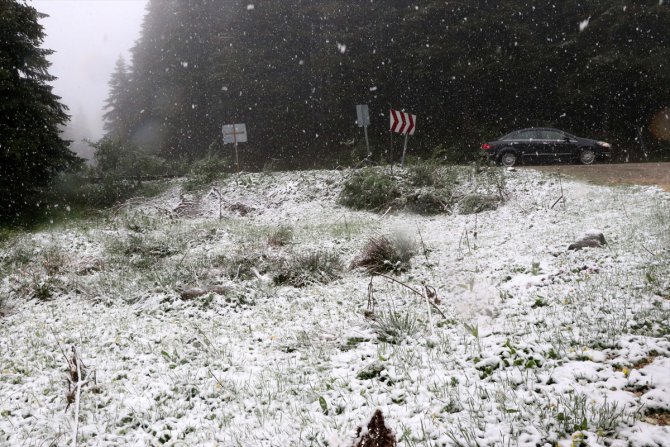
[[[414,242],[405,235],[374,236],[368,239],[352,267],[363,268],[372,274],[403,272],[409,269],[414,251]]]

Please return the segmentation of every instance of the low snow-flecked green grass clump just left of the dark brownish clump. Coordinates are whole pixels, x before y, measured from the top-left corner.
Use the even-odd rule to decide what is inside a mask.
[[[315,251],[300,254],[282,263],[273,278],[275,285],[305,287],[309,284],[327,284],[340,277],[342,261],[333,252]]]

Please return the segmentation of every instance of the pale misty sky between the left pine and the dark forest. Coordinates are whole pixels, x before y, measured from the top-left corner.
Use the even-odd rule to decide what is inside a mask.
[[[31,0],[50,17],[41,19],[50,56],[54,92],[70,108],[70,138],[102,136],[102,107],[119,55],[139,37],[146,0]]]

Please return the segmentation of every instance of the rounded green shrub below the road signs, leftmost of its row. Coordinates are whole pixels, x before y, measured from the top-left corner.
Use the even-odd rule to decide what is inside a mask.
[[[357,210],[375,210],[399,196],[393,177],[378,169],[364,168],[344,183],[339,203]]]

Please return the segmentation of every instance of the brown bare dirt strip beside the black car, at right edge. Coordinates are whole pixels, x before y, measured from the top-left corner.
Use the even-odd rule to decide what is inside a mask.
[[[656,185],[670,192],[670,163],[526,166],[604,185]]]

